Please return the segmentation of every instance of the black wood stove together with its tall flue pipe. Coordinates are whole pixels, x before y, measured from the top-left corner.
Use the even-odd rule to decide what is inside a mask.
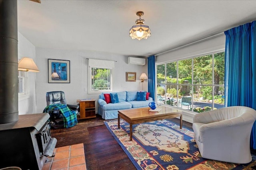
[[[48,113],[18,114],[17,0],[0,0],[0,169],[41,170],[57,140]]]

